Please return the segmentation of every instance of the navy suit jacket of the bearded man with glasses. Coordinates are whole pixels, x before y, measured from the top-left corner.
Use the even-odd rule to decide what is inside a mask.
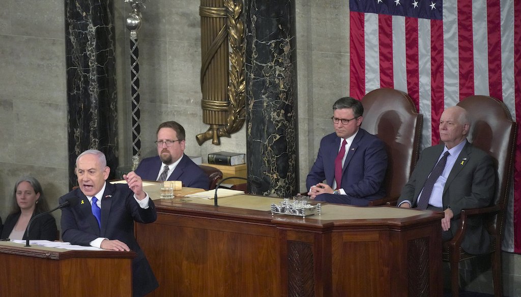
[[[159,156],[144,158],[138,168],[135,169],[135,173],[144,180],[156,180],[162,166],[163,162],[161,162]],[[210,186],[210,180],[203,169],[184,154],[168,180],[180,180],[183,187],[208,190]]]

